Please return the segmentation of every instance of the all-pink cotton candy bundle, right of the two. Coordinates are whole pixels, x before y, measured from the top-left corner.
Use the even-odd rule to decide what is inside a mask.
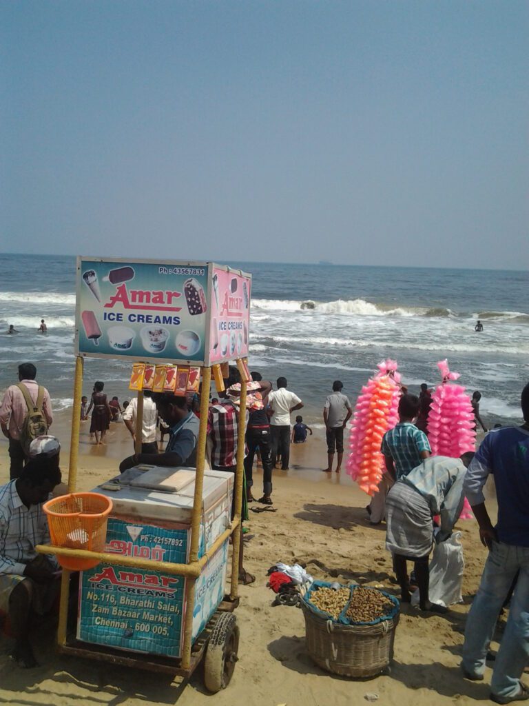
[[[448,361],[437,363],[443,381],[432,395],[428,416],[428,441],[434,456],[458,458],[475,448],[474,412],[463,385],[455,385],[458,373],[451,373]]]

